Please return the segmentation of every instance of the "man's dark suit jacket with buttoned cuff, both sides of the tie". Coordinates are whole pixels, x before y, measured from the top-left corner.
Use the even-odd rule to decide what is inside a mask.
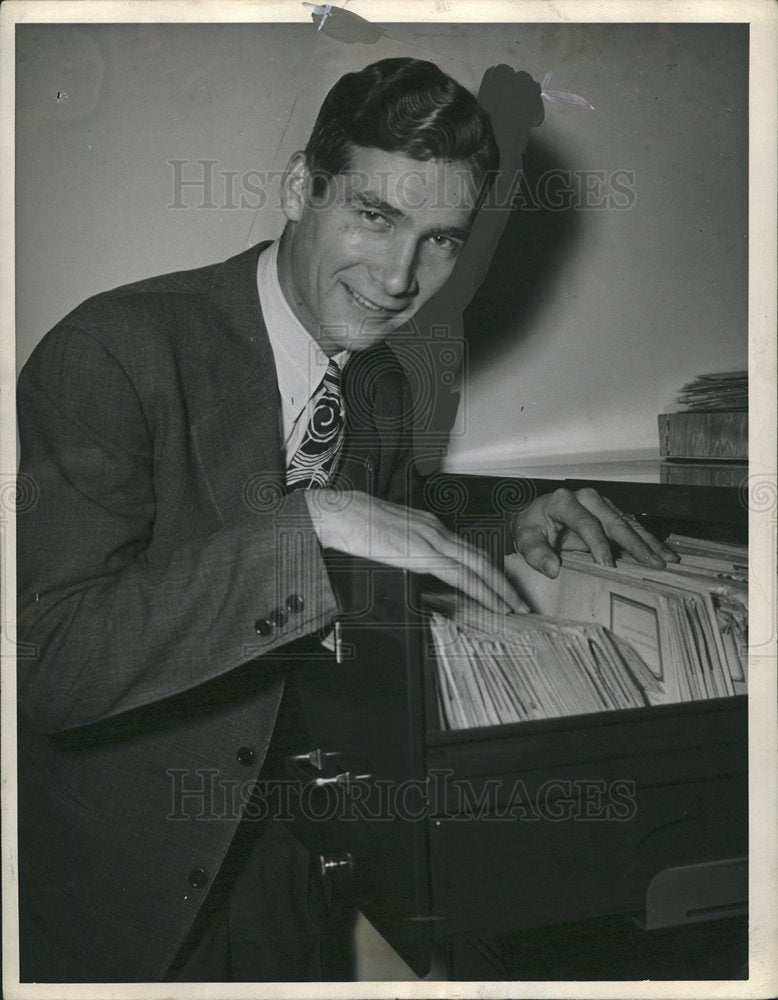
[[[285,491],[262,248],[88,300],[20,376],[36,497],[17,524],[20,933],[37,981],[163,976],[234,835],[229,789],[259,773],[290,643],[338,611]],[[345,379],[339,485],[409,500],[407,381],[383,345],[352,366],[367,374]]]

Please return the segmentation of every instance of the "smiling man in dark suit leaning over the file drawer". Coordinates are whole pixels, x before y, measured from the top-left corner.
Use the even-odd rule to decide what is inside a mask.
[[[290,162],[279,240],[98,295],[25,366],[23,981],[325,974],[307,854],[229,790],[262,774],[295,644],[338,614],[325,550],[523,609],[420,509],[384,343],[452,274],[497,164],[437,67],[349,74]],[[552,575],[564,545],[672,558],[596,494],[541,497],[511,531]]]

